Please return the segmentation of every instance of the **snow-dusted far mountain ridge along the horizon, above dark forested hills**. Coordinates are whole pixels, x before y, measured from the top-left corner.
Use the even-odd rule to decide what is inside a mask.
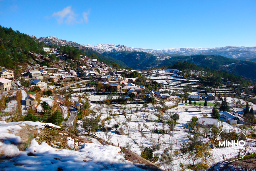
[[[80,47],[88,47],[92,50],[99,52],[100,54],[104,52],[119,52],[119,51],[138,51],[138,52],[148,52],[150,54],[154,54],[156,56],[173,56],[173,54],[177,55],[220,55],[225,56],[227,58],[233,59],[241,59],[241,60],[250,60],[256,58],[256,46],[254,47],[235,47],[235,46],[226,46],[219,48],[167,48],[167,49],[146,49],[146,48],[134,48],[127,47],[121,44],[97,44],[97,45],[80,45],[76,42],[71,42],[67,40],[61,40],[57,37],[41,37],[38,39],[46,44],[55,44],[57,46],[80,46]],[[170,54],[170,55],[168,55]],[[161,58],[159,58],[161,60]]]

